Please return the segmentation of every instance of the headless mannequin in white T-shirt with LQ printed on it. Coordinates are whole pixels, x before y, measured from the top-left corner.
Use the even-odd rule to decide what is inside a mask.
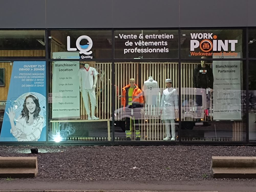
[[[152,115],[152,110],[154,108],[155,114],[155,106],[159,106],[157,103],[157,98],[160,98],[160,89],[157,81],[153,79],[153,77],[148,77],[148,80],[143,83],[143,95],[145,96],[145,108],[146,115]],[[148,112],[148,113],[147,113]],[[159,112],[157,113],[159,115]]]

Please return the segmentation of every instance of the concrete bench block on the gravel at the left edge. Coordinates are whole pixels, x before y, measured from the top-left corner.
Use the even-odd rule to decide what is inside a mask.
[[[0,157],[0,177],[36,177],[37,157]]]

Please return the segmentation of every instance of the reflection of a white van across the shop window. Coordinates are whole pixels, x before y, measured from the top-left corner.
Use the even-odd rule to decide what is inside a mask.
[[[210,106],[210,104],[208,104],[209,102],[206,98],[206,90],[196,89],[195,91],[194,88],[182,88],[181,95],[181,129],[193,129],[194,126],[208,126],[209,123],[206,120],[209,120],[210,116],[207,106]],[[132,109],[131,106],[126,106],[115,110],[114,115],[116,126],[121,127],[123,131],[125,131],[125,118],[136,120],[154,119],[154,122],[162,122],[159,106],[154,106],[152,109],[148,107]],[[176,119],[176,125],[178,126],[178,117]]]

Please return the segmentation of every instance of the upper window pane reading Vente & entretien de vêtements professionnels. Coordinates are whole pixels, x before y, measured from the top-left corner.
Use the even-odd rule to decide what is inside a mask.
[[[178,58],[178,30],[116,30],[115,58]]]

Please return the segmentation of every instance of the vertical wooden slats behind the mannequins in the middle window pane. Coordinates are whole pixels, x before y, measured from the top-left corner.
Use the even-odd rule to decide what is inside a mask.
[[[149,76],[153,76],[153,78],[158,81],[159,87],[162,88],[161,91],[166,87],[165,79],[167,78],[171,78],[174,82],[174,86],[178,86],[178,63],[115,63],[115,65],[116,84],[118,85],[118,87],[120,87],[120,89],[127,84],[127,81],[129,80],[129,76],[131,76],[131,74],[136,74],[136,76],[133,77],[135,78],[136,82],[138,82],[138,74],[140,74],[140,82],[137,83],[139,88],[142,88],[143,82],[146,81]],[[118,103],[116,103],[115,107],[116,109],[119,108]],[[150,119],[146,119],[147,121],[145,121],[145,119],[142,119],[142,140],[162,140],[165,137],[163,123],[159,123],[159,117],[155,119],[153,113],[149,116],[149,118]]]

